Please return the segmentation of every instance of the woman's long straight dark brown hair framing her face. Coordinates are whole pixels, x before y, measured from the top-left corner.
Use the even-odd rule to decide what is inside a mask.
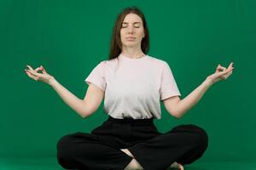
[[[137,8],[136,6],[131,6],[128,8],[124,8],[123,11],[118,15],[117,20],[113,26],[111,44],[110,44],[110,52],[109,52],[109,59],[115,59],[121,53],[122,42],[120,38],[120,29],[122,26],[123,20],[125,20],[126,14],[137,14],[143,20],[143,28],[145,37],[143,37],[141,48],[144,54],[148,54],[149,50],[149,32],[146,19],[144,17],[143,12]]]

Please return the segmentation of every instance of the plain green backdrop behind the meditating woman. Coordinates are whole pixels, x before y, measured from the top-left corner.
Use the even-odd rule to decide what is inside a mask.
[[[65,88],[84,99],[88,87],[84,78],[108,59],[114,21],[131,5],[141,8],[148,21],[148,54],[171,66],[182,99],[218,64],[227,67],[234,62],[236,68],[181,119],[170,116],[161,104],[162,119],[154,121],[159,131],[194,123],[209,135],[208,149],[198,162],[250,161],[255,169],[253,0],[0,0],[0,167],[8,169],[33,157],[52,158],[43,164],[60,168],[55,161],[57,141],[68,133],[90,133],[107,119],[103,101],[95,114],[82,119],[53,88],[33,81],[23,70],[26,64],[44,65]]]

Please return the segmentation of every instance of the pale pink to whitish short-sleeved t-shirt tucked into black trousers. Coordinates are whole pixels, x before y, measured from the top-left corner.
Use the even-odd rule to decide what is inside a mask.
[[[181,96],[166,61],[149,55],[103,60],[84,81],[105,92],[104,111],[118,119],[160,119],[160,101]]]

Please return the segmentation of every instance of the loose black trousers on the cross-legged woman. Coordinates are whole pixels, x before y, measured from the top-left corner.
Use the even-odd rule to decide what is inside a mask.
[[[207,150],[205,130],[192,124],[158,132],[152,119],[115,119],[111,116],[91,133],[72,133],[57,144],[61,167],[79,170],[123,170],[133,159],[144,170],[166,170],[178,163],[190,164]]]

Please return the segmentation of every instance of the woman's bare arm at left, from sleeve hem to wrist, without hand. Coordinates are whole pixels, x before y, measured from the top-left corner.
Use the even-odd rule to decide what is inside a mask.
[[[90,83],[87,89],[84,100],[77,98],[74,94],[69,92],[67,88],[64,88],[55,78],[49,81],[49,85],[55,89],[57,94],[61,96],[61,99],[63,99],[73,111],[76,111],[83,118],[90,116],[97,110],[104,96],[102,89],[97,88],[92,83]]]

